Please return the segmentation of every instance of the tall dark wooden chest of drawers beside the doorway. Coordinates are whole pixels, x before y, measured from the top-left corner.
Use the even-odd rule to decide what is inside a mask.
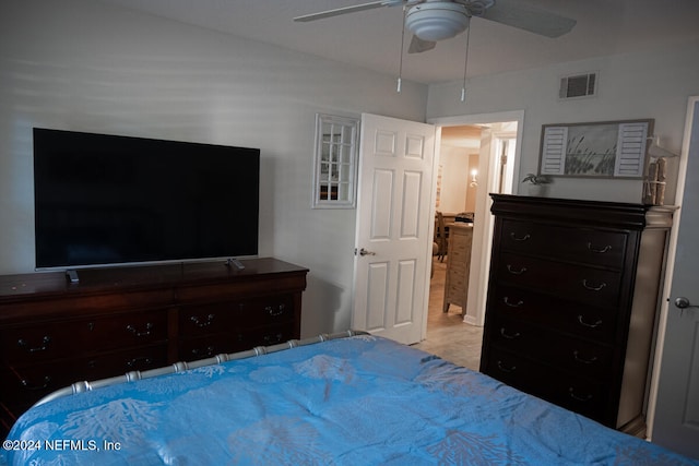
[[[491,196],[481,371],[643,435],[673,210]]]

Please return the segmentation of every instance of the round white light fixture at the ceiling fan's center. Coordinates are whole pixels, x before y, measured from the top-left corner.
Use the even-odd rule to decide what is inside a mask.
[[[445,40],[469,27],[470,16],[461,3],[425,2],[412,7],[405,15],[405,27],[423,40]]]

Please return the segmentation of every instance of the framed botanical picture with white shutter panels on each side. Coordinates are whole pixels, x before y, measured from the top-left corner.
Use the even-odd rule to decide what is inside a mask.
[[[541,175],[643,178],[653,119],[544,124]]]

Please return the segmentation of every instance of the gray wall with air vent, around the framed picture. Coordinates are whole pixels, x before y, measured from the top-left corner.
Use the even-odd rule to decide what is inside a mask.
[[[558,99],[561,76],[599,72],[599,93],[584,99]],[[461,83],[429,88],[427,118],[524,110],[520,177],[536,172],[542,124],[655,119],[654,133],[664,147],[682,148],[687,99],[699,94],[699,40],[657,46],[643,53],[559,63],[469,80],[465,103]],[[674,201],[677,160],[668,163],[673,179],[666,203]],[[641,181],[556,178],[550,196],[641,202]]]

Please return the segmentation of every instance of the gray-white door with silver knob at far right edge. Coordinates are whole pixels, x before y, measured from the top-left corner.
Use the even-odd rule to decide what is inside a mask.
[[[684,195],[652,441],[699,458],[699,97],[690,100],[685,141],[687,169],[678,183]],[[677,306],[680,298],[689,307]]]

